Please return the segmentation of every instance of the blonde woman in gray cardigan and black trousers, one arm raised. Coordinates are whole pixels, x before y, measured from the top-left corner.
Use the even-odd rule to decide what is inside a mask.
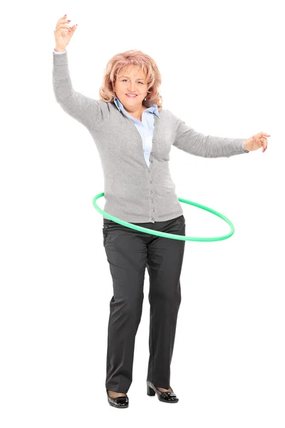
[[[90,131],[105,178],[104,210],[121,220],[185,235],[185,218],[168,167],[171,146],[208,158],[229,157],[262,147],[266,133],[248,139],[198,133],[162,108],[160,71],[141,51],[115,55],[106,68],[100,99],[73,90],[66,46],[76,31],[63,16],[54,32],[53,90],[66,113]],[[147,394],[178,402],[170,387],[170,363],[180,307],[185,240],[127,228],[103,218],[103,245],[113,278],[108,324],[105,387],[110,405],[126,408],[132,382],[135,335],[140,324],[145,267],[150,276],[150,358]]]

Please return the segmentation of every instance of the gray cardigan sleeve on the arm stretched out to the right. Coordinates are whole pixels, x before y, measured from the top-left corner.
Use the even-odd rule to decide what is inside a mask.
[[[244,149],[244,138],[223,138],[205,136],[188,126],[182,119],[175,118],[175,141],[173,146],[186,153],[203,158],[229,158],[230,156],[249,153]]]

